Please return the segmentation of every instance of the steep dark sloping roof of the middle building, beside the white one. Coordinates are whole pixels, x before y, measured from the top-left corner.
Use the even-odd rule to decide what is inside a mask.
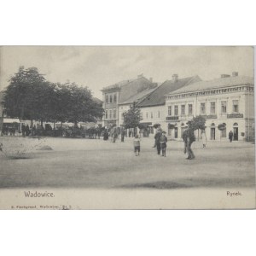
[[[161,84],[156,90],[144,98],[138,106],[141,108],[164,105],[166,103],[165,96],[167,94],[171,93],[173,90],[177,90],[198,81],[201,81],[201,78],[197,75],[190,78],[178,79],[177,82],[173,80],[166,80],[166,82]]]

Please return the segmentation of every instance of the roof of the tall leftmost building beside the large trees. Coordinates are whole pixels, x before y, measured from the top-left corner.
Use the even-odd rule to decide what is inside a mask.
[[[152,81],[143,77],[143,75],[140,75],[137,79],[125,80],[104,87],[102,91],[110,92],[119,90],[119,103],[123,103],[126,102],[131,96],[135,96],[143,90],[152,89],[155,87],[157,87],[157,83],[153,83]]]

